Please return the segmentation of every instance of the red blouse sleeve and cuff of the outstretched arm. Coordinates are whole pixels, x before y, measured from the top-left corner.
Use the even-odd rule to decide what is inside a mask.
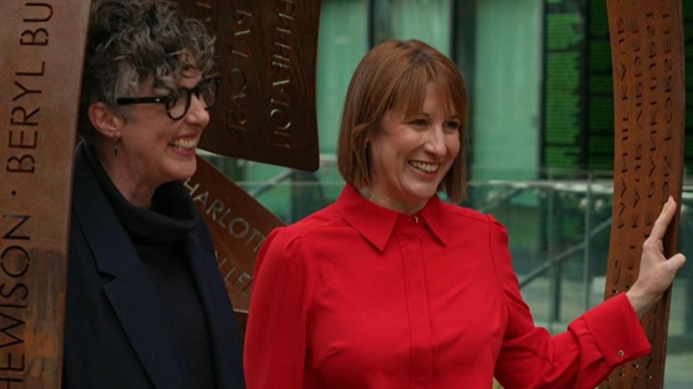
[[[551,336],[536,327],[520,296],[505,228],[489,217],[489,244],[509,318],[495,365],[503,388],[594,388],[615,366],[649,354],[650,345],[624,293],[590,309]]]

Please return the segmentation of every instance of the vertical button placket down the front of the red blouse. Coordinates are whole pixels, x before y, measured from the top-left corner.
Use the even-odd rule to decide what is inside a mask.
[[[416,219],[418,221],[418,219]],[[402,218],[397,233],[402,251],[404,282],[412,342],[412,389],[430,388],[433,370],[432,331],[420,224]]]

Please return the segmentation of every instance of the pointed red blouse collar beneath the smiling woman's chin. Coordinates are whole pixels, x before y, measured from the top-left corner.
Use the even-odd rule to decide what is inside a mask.
[[[380,251],[385,249],[398,219],[411,221],[413,217],[421,217],[441,244],[446,245],[448,242],[448,224],[444,215],[444,205],[437,195],[431,197],[422,210],[409,216],[371,203],[364,199],[353,186],[347,184],[342,189],[340,197],[337,197],[335,206],[344,220]]]

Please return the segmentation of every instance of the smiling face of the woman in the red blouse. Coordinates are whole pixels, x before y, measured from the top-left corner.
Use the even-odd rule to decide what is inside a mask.
[[[461,120],[438,92],[428,84],[423,107],[413,115],[387,111],[369,139],[371,184],[365,196],[374,203],[411,215],[450,170],[459,154]]]

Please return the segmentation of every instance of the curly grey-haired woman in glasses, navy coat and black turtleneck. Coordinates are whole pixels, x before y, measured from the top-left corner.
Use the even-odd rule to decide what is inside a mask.
[[[231,302],[181,183],[219,84],[213,38],[173,3],[93,3],[63,388],[243,388]]]

